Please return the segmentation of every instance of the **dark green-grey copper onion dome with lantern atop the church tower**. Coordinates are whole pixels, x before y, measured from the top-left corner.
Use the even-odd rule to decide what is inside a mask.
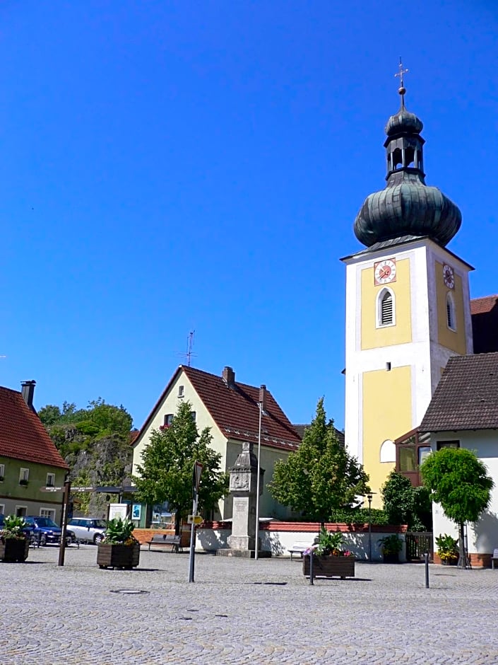
[[[387,185],[365,199],[355,219],[355,236],[371,247],[403,236],[429,236],[449,243],[461,226],[461,212],[437,187],[425,184],[422,121],[405,108],[405,88],[399,88],[401,108],[386,124]]]

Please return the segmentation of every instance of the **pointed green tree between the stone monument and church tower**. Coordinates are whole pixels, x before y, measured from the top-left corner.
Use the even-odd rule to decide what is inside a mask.
[[[275,463],[268,490],[284,506],[323,522],[365,495],[367,482],[362,465],[338,442],[333,421],[326,422],[322,398],[299,449]]]

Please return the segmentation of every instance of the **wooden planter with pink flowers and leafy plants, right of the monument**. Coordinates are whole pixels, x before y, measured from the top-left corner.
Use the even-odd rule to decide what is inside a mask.
[[[322,527],[316,543],[304,550],[302,572],[309,577],[310,560],[313,557],[313,576],[355,577],[355,555],[343,549],[344,536]]]

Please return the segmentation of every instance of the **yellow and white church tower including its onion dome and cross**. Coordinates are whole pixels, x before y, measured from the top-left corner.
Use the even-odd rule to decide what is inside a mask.
[[[425,184],[422,121],[401,108],[386,125],[387,184],[365,199],[345,257],[345,444],[379,490],[393,441],[420,424],[449,357],[473,352],[468,273],[446,249],[461,213]]]

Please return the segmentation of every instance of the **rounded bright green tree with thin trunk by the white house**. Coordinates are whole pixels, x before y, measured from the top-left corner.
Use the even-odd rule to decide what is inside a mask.
[[[432,492],[448,519],[458,525],[460,562],[465,566],[463,526],[478,521],[490,505],[494,482],[487,467],[473,451],[466,448],[443,448],[429,455],[420,466],[425,486]]]

